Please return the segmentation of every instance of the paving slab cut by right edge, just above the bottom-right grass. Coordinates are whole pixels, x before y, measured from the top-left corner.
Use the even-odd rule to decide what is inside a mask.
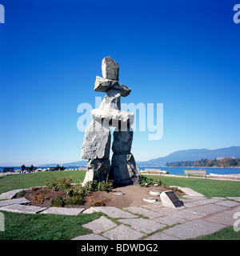
[[[214,214],[209,218],[206,218],[207,221],[221,223],[226,226],[234,226],[234,222],[236,222],[236,218],[234,218],[234,214],[240,212],[240,206],[232,209],[226,210],[224,212]]]

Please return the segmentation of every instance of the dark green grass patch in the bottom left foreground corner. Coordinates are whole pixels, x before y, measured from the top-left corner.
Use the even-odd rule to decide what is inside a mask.
[[[100,218],[102,213],[67,216],[58,214],[15,214],[2,211],[5,231],[0,232],[0,240],[66,240],[91,230],[83,224]]]

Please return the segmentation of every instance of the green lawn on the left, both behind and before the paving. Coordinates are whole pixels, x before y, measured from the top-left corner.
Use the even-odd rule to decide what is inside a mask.
[[[72,177],[73,182],[82,182],[84,170],[39,172],[14,174],[0,177],[0,194],[9,190],[44,186],[52,177]],[[53,240],[70,239],[91,230],[82,225],[102,216],[102,213],[67,216],[58,214],[15,214],[2,211],[5,218],[5,231],[0,232],[0,240]]]

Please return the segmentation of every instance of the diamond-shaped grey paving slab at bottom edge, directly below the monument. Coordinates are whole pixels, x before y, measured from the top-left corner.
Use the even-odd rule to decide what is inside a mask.
[[[113,230],[106,231],[102,235],[106,238],[110,238],[110,240],[137,240],[145,234],[121,224]]]

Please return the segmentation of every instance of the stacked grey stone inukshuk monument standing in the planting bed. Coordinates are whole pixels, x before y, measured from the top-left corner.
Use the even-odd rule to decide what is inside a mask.
[[[92,122],[86,128],[82,143],[82,159],[88,159],[83,185],[88,181],[114,180],[114,186],[136,185],[140,171],[130,153],[134,132],[130,126],[134,113],[121,111],[121,96],[131,90],[118,82],[119,66],[112,58],[102,60],[102,78],[96,77],[95,91],[106,93],[98,109],[92,110]],[[114,126],[114,152],[110,165],[110,126]]]

